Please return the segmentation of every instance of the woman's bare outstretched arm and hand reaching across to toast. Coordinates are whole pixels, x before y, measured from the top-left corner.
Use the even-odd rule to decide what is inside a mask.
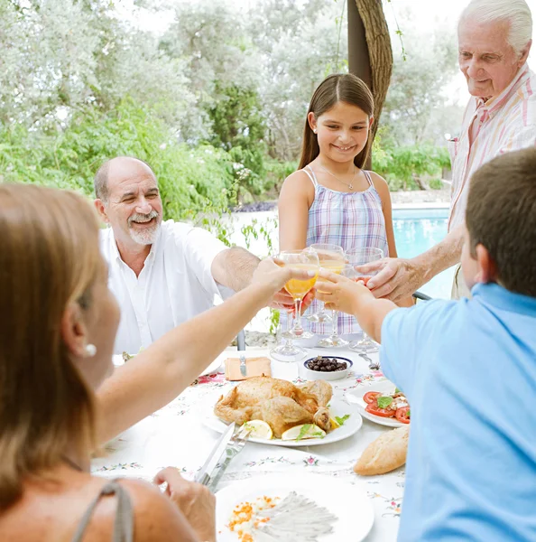
[[[166,333],[116,369],[97,390],[98,441],[106,442],[177,397],[291,277],[309,276],[263,260],[252,285]]]

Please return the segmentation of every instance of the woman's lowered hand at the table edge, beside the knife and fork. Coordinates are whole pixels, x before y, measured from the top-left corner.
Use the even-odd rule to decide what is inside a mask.
[[[216,497],[206,486],[184,480],[173,467],[163,469],[153,482],[167,482],[166,495],[179,507],[200,541],[216,542]]]

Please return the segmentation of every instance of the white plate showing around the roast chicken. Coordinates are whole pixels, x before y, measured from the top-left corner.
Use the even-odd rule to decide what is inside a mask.
[[[211,397],[210,403],[205,407],[205,416],[204,423],[210,429],[214,429],[218,433],[223,433],[226,429],[227,424],[220,420],[214,414],[214,399]],[[295,448],[297,446],[317,446],[319,444],[331,444],[337,443],[340,440],[348,438],[348,436],[355,435],[361,425],[363,425],[363,418],[359,416],[359,410],[354,405],[348,405],[348,403],[342,399],[332,397],[329,401],[329,411],[332,417],[338,416],[343,417],[347,414],[350,417],[346,420],[344,425],[337,427],[337,429],[332,429],[324,438],[306,438],[300,441],[283,441],[281,438],[250,438],[249,441],[252,443],[259,444],[271,444],[273,446],[288,446]]]

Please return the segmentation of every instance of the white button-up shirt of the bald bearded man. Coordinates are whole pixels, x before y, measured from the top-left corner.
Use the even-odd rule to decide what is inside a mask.
[[[226,246],[205,229],[162,222],[137,277],[121,259],[111,228],[101,230],[100,248],[109,266],[108,285],[121,307],[116,354],[136,354],[209,309],[220,295],[211,266]]]

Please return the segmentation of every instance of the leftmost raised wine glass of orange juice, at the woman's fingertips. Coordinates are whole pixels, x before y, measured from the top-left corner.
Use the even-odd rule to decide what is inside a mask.
[[[284,266],[294,269],[314,271],[315,275],[307,279],[291,278],[285,285],[285,290],[291,294],[294,300],[294,325],[288,332],[293,339],[310,339],[313,333],[306,332],[301,325],[301,302],[305,295],[317,282],[319,276],[319,257],[314,250],[285,250],[280,252],[278,258]]]

